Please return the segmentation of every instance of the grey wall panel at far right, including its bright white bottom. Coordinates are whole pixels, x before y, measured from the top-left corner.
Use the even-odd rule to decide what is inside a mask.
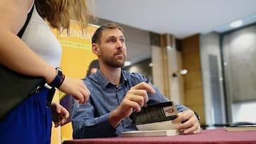
[[[230,122],[256,122],[256,24],[222,36],[225,87],[228,104],[231,104]]]

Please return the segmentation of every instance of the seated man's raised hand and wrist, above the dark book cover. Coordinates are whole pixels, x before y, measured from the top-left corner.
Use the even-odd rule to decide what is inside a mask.
[[[151,85],[141,82],[127,92],[122,103],[110,113],[110,123],[117,127],[122,119],[127,118],[133,111],[141,111],[142,106],[149,101],[147,92],[154,94],[155,91]]]

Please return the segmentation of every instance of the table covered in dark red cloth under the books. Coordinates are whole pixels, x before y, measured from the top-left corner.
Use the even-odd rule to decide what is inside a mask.
[[[65,140],[63,144],[256,144],[256,131],[225,131],[225,128],[202,130],[196,135],[161,137],[115,137]]]

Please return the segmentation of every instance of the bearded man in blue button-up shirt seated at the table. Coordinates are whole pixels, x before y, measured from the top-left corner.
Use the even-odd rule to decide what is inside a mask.
[[[121,69],[127,55],[123,30],[115,23],[97,28],[92,36],[92,52],[97,55],[100,68],[85,77],[90,98],[85,104],[73,105],[73,138],[104,138],[119,136],[124,131],[136,131],[129,118],[141,111],[144,103],[157,104],[169,101],[146,77]],[[183,122],[177,129],[184,133],[200,133],[201,126],[194,111],[176,104],[178,118]]]

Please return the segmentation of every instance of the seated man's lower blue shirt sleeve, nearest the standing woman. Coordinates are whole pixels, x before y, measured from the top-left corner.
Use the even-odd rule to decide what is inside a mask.
[[[116,128],[108,121],[110,113],[95,118],[90,100],[73,104],[73,138],[107,138],[117,136]]]

